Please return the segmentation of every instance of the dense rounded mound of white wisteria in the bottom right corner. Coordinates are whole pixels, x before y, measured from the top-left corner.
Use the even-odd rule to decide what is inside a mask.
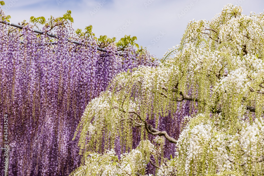
[[[157,175],[263,174],[263,118],[252,123],[237,119],[240,128],[233,134],[208,119],[197,115],[189,121],[177,141],[176,157]]]

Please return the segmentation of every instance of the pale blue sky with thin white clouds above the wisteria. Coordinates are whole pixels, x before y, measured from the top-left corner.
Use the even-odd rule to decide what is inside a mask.
[[[227,3],[242,6],[243,14],[264,10],[263,0],[5,0],[2,9],[10,22],[29,22],[31,16],[62,16],[72,11],[74,29],[92,25],[97,37],[107,35],[119,40],[124,35],[137,37],[137,43],[150,54],[163,54],[179,44],[187,23],[210,20]]]

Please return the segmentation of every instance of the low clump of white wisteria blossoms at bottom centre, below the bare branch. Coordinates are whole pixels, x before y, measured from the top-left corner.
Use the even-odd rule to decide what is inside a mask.
[[[86,153],[85,164],[71,175],[128,175],[140,174],[150,161],[149,156],[155,153],[154,145],[149,140],[140,141],[136,149],[123,153],[120,159],[115,151],[107,150],[104,154]],[[152,174],[149,174],[152,175]],[[153,176],[153,175],[152,175]]]

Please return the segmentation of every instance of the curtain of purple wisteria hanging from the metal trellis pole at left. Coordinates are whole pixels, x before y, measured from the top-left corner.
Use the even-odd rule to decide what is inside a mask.
[[[0,16],[6,17],[2,10]],[[93,35],[77,37],[67,20],[57,24],[52,30],[56,44],[36,35],[28,23],[21,30],[0,24],[0,114],[9,115],[10,176],[69,175],[80,164],[78,140],[72,138],[88,102],[117,73],[157,65],[148,51],[129,46],[120,52],[114,42],[103,48],[108,52],[98,51]],[[3,120],[0,124],[2,145]],[[3,157],[0,163],[3,168]]]

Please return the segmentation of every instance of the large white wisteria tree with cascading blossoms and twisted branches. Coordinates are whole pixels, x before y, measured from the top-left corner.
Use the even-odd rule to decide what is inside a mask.
[[[168,159],[164,143],[158,147],[159,140],[152,140],[160,151],[148,160],[156,175],[263,175],[264,13],[241,13],[240,6],[227,4],[211,21],[190,21],[180,45],[169,49],[157,67],[118,74],[88,103],[78,125],[83,159],[120,146],[121,153],[133,154],[133,129],[138,128],[140,141],[164,136],[176,145],[175,157]],[[181,113],[178,103],[184,101],[192,104],[189,114],[183,111],[177,139],[161,123],[169,128],[163,119]],[[82,163],[73,175],[91,170]],[[145,175],[146,169],[127,172]]]

